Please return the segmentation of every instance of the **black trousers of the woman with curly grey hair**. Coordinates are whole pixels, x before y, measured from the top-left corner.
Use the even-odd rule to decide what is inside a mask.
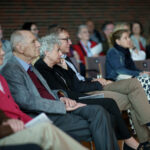
[[[117,139],[128,139],[131,137],[129,130],[122,118],[120,110],[116,102],[111,98],[99,98],[99,99],[86,99],[77,100],[78,102],[88,104],[88,105],[100,105],[105,108],[110,116]]]

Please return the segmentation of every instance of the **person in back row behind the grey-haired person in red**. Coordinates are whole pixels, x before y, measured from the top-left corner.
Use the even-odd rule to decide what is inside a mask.
[[[86,25],[87,25],[88,31],[90,33],[90,41],[94,41],[96,43],[101,43],[102,42],[101,35],[100,35],[99,31],[95,29],[94,22],[91,19],[89,19],[86,22]]]

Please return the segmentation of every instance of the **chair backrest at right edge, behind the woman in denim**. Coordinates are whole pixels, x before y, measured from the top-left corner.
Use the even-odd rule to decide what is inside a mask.
[[[134,61],[136,67],[143,71],[150,71],[150,59]]]

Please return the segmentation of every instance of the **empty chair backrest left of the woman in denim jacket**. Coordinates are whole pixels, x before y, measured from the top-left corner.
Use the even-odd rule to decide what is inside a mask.
[[[97,77],[98,74],[105,78],[105,56],[86,57],[87,77]]]

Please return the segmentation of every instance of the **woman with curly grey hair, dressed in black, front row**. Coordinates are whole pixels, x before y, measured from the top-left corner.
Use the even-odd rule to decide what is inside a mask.
[[[41,47],[40,52],[43,58],[39,59],[35,63],[35,67],[39,70],[39,72],[43,75],[46,79],[48,85],[52,89],[62,89],[65,90],[67,93],[71,92],[69,86],[67,86],[67,82],[64,78],[62,78],[59,73],[55,72],[55,64],[60,63],[62,53],[60,51],[59,45],[60,41],[56,34],[51,34],[48,36],[43,37],[41,40]],[[54,69],[54,70],[53,70]],[[69,79],[69,78],[68,78]],[[72,93],[72,92],[71,92]],[[77,92],[76,95],[79,95]],[[117,105],[111,99],[107,98],[100,98],[100,99],[85,99],[85,100],[77,100],[78,102],[82,102],[85,104],[96,104],[103,106],[110,115],[115,118],[113,124],[115,124],[115,129],[118,130],[119,139],[125,139],[125,143],[132,146],[134,149],[138,149],[139,143],[135,141],[133,137],[129,134],[129,131],[122,119],[120,111]],[[139,146],[140,147],[140,146]]]

